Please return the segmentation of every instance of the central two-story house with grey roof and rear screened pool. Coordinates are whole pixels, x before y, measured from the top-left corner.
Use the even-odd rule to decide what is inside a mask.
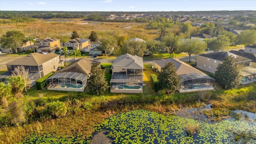
[[[116,57],[111,69],[110,92],[143,92],[143,59],[124,54]]]

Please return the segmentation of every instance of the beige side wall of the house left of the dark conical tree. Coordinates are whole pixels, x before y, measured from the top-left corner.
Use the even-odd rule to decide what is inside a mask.
[[[205,70],[207,72],[211,72],[211,73],[215,74],[218,64],[221,64],[221,62],[218,60],[216,60],[216,64],[214,64],[214,60],[211,58],[197,56],[196,67],[200,68],[202,70]],[[204,67],[204,65],[205,65],[205,67]],[[209,66],[210,66],[210,70],[209,70]]]

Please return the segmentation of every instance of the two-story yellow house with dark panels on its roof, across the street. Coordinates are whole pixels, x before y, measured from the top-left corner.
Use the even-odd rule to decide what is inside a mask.
[[[63,46],[68,47],[68,52],[73,53],[73,50],[90,52],[90,40],[86,38],[74,38],[65,42]]]

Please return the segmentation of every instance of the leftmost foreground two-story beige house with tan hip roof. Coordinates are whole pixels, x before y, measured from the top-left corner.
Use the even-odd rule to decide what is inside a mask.
[[[19,58],[18,60],[7,63],[6,66],[8,71],[0,75],[0,81],[6,81],[6,78],[11,76],[12,71],[17,66],[24,66],[30,72],[30,83],[31,86],[33,86],[38,78],[56,71],[59,65],[60,56],[58,54],[54,54],[52,52],[48,54],[40,54],[37,52],[32,53],[28,56]]]

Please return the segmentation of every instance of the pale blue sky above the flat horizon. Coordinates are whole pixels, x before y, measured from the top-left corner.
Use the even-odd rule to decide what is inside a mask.
[[[212,11],[256,10],[256,0],[0,0],[16,11]]]

